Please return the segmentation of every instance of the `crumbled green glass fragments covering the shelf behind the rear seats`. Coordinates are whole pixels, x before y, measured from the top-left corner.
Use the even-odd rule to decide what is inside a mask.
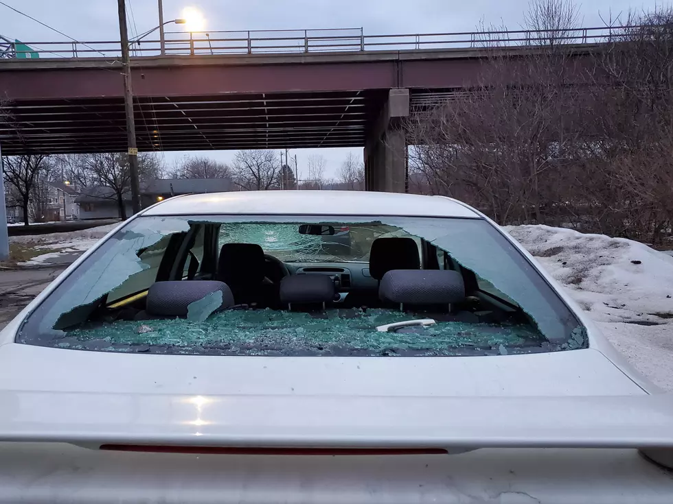
[[[78,329],[59,341],[59,346],[172,354],[322,357],[507,355],[502,351],[505,347],[514,354],[535,349],[560,350],[547,346],[546,340],[526,324],[437,322],[407,332],[376,331],[376,326],[408,318],[409,313],[386,309],[328,309],[317,313],[233,310],[216,313],[205,321],[152,320],[143,325],[126,321]],[[92,344],[95,348],[91,348]]]

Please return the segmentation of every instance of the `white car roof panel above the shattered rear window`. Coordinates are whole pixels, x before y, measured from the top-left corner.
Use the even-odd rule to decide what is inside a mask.
[[[172,197],[143,215],[481,215],[448,197],[372,191],[236,191]]]

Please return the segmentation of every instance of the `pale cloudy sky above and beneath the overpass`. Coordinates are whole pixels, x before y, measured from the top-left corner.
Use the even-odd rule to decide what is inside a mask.
[[[1,0],[77,40],[119,40],[117,0]],[[158,0],[126,0],[130,36],[159,24]],[[629,10],[650,10],[655,0],[585,0],[580,5],[584,27],[603,26]],[[470,32],[480,21],[519,29],[528,0],[163,0],[164,19],[180,17],[185,8],[203,14],[207,30],[362,28],[367,35]],[[170,25],[169,25],[170,26]],[[177,25],[173,25],[175,29]],[[167,27],[167,29],[169,29]],[[0,4],[0,34],[24,42],[65,40]],[[348,152],[363,149],[294,149],[300,178],[308,156],[327,160],[328,177],[335,177]],[[167,165],[185,154],[230,162],[233,152],[166,152]],[[280,154],[279,154],[280,157]]]

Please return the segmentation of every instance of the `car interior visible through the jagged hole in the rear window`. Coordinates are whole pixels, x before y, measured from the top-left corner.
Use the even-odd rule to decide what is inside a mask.
[[[299,235],[318,237],[322,249],[360,250],[347,258],[334,253],[320,261],[284,261],[283,254],[258,243],[223,243],[220,226],[226,224],[192,223],[189,232],[139,250],[138,257],[152,267],[106,294],[87,322],[187,317],[190,304],[220,291],[222,303],[215,311],[271,309],[320,316],[330,309],[390,309],[411,319],[530,323],[516,303],[420,237],[349,244],[344,243],[345,226],[301,225]],[[338,240],[330,243],[334,235]],[[354,261],[354,256],[366,261]]]

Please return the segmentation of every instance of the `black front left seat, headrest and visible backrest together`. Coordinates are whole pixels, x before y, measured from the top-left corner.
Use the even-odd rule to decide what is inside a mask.
[[[216,279],[226,283],[236,304],[269,307],[275,291],[264,276],[264,250],[255,243],[225,243],[220,249]]]

